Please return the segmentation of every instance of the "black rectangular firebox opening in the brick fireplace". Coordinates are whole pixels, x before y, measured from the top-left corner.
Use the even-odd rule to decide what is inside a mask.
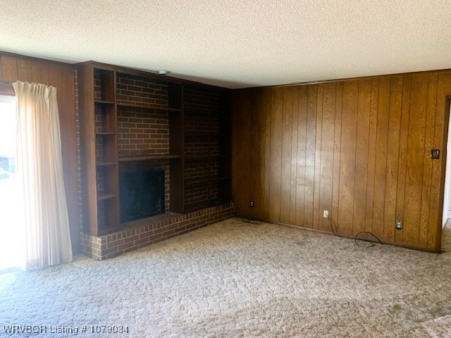
[[[121,223],[164,213],[164,170],[119,174]]]

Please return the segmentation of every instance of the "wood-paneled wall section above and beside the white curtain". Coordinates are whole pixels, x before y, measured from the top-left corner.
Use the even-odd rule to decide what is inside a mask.
[[[75,84],[73,66],[0,52],[0,80],[39,82],[56,87],[61,124],[61,147],[66,199],[73,251],[80,250],[77,196],[77,142],[75,129]]]

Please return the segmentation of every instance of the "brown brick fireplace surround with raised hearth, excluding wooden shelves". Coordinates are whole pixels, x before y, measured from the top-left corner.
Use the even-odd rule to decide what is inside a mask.
[[[75,78],[78,111],[78,73],[75,73]],[[121,72],[116,74],[119,176],[133,172],[163,173],[162,210],[164,213],[150,217],[146,214],[143,218],[136,220],[123,218],[116,232],[99,236],[87,234],[81,225],[80,247],[85,255],[97,260],[112,258],[234,216],[235,206],[231,202],[228,203],[230,198],[221,199],[220,196],[220,189],[228,184],[229,177],[219,169],[220,162],[226,161],[228,155],[225,149],[221,151],[220,139],[228,139],[228,135],[224,134],[226,135],[224,136],[220,132],[218,94],[196,86],[186,85],[184,88],[183,156],[158,158],[173,154],[173,150],[170,151],[169,135],[170,120],[173,115],[170,115],[171,111],[164,109],[170,101],[168,84],[138,75]],[[96,98],[101,99],[101,83],[98,80],[95,82],[94,91]],[[130,104],[138,106],[130,106]],[[155,108],[147,108],[144,107],[145,105]],[[101,114],[96,114],[96,117],[97,115]],[[209,118],[209,123],[206,123],[206,118]],[[101,130],[101,120],[96,120],[97,129]],[[172,132],[171,135],[174,133]],[[223,143],[226,144],[226,142]],[[97,144],[96,149],[101,151],[101,145]],[[176,201],[176,197],[179,200],[183,199],[185,204],[183,214],[171,211],[173,161],[183,163],[180,167],[183,171],[179,178],[176,175],[172,177],[173,183],[179,182],[180,179],[185,182],[180,190],[182,196],[173,193],[173,202]],[[80,155],[78,165],[80,166]],[[205,177],[214,177],[214,179],[204,181]],[[79,189],[81,189],[80,181]],[[102,177],[97,177],[97,184],[104,184]],[[179,187],[178,183],[176,187]],[[125,196],[124,192],[119,194],[120,204]],[[81,199],[79,201],[81,212]],[[210,201],[215,202],[210,204]],[[100,208],[98,210],[101,214],[102,210]],[[107,224],[108,220],[99,219],[99,223],[101,222]]]

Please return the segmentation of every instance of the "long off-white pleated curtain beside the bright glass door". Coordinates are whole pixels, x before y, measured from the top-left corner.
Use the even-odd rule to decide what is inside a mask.
[[[15,82],[17,173],[23,182],[25,270],[72,261],[56,88]]]

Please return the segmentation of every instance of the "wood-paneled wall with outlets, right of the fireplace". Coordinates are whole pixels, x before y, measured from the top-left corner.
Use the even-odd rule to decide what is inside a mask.
[[[237,215],[330,231],[328,210],[342,234],[438,252],[450,94],[449,70],[237,90]]]

